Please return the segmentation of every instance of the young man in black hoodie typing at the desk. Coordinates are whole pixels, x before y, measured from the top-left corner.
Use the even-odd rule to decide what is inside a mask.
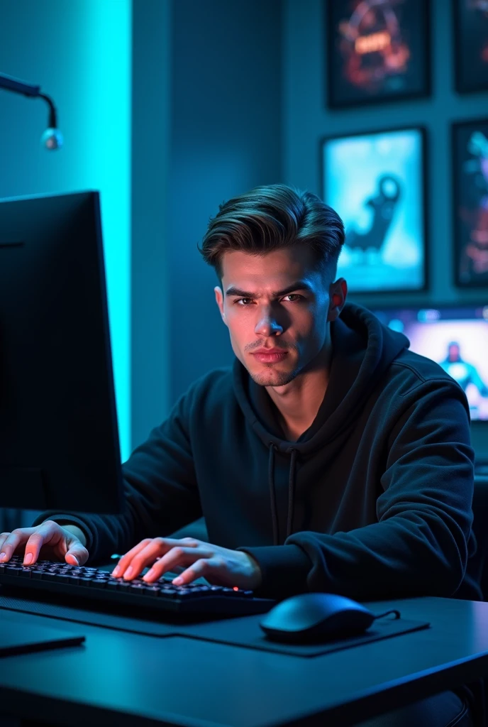
[[[68,563],[127,551],[114,571],[127,579],[184,566],[175,582],[275,598],[481,598],[465,576],[476,550],[465,394],[346,305],[343,241],[312,193],[270,185],[222,205],[200,252],[219,278],[232,368],[198,379],[123,465],[123,515],[43,513],[0,536],[4,560],[21,545],[26,563],[41,546]],[[165,537],[202,514],[210,542]],[[368,724],[413,723],[471,716],[447,691]]]

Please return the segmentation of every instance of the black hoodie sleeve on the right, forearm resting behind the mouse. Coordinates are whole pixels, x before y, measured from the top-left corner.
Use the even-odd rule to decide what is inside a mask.
[[[409,402],[389,436],[378,522],[334,534],[298,532],[285,545],[239,548],[261,567],[256,595],[285,598],[310,590],[373,601],[458,590],[473,521],[468,403],[445,379],[418,385]]]

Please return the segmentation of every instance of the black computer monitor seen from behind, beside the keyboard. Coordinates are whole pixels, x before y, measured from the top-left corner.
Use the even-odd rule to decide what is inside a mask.
[[[99,193],[0,201],[0,507],[121,513]]]

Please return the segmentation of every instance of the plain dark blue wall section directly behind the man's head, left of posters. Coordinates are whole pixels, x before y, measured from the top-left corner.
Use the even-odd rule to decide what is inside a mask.
[[[198,252],[222,201],[280,182],[280,0],[177,0],[167,259],[170,401],[234,358]]]

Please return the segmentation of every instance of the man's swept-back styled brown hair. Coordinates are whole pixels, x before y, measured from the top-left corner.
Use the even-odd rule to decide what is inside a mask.
[[[308,245],[317,269],[337,263],[344,242],[341,217],[320,197],[284,184],[256,187],[219,206],[198,250],[221,283],[222,255],[240,250],[264,256],[272,250]]]

